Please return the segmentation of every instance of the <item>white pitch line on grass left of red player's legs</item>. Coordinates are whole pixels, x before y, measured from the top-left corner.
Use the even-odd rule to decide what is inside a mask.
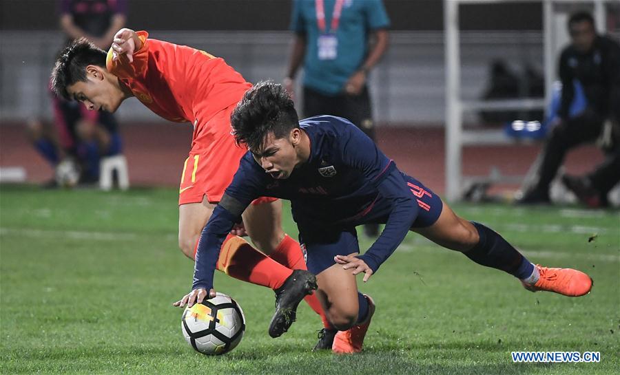
[[[67,238],[67,239],[89,239],[96,241],[112,241],[121,242],[140,237],[146,237],[147,234],[138,233],[110,233],[96,231],[57,231],[47,229],[32,228],[0,228],[0,235],[19,235],[23,237],[34,238]],[[174,238],[176,236],[167,234],[166,237]]]

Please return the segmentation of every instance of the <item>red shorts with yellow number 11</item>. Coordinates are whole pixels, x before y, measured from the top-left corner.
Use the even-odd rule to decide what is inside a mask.
[[[192,149],[183,163],[183,173],[178,189],[178,204],[200,203],[207,197],[209,203],[222,199],[224,191],[232,182],[239,168],[239,161],[247,149],[235,144],[231,134],[230,114],[236,105],[231,105],[201,125],[196,119]],[[273,202],[277,198],[262,197],[252,202],[260,204]]]

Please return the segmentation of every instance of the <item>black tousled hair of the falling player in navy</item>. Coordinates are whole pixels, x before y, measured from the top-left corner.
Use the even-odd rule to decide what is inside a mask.
[[[259,150],[271,132],[285,138],[299,127],[293,100],[282,85],[272,81],[256,83],[244,95],[230,116],[237,144]]]

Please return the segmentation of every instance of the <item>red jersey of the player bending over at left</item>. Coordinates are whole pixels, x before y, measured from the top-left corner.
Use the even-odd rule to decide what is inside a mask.
[[[238,103],[251,87],[222,58],[196,50],[149,39],[138,31],[142,46],[134,61],[121,55],[112,61],[107,52],[107,70],[131,89],[134,96],[159,116],[175,122],[204,125],[219,111]],[[230,132],[229,124],[226,129]]]

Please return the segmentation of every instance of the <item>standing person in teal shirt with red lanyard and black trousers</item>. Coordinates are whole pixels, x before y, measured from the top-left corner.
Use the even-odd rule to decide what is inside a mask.
[[[366,83],[388,47],[389,25],[382,0],[294,0],[284,86],[293,95],[303,65],[303,116],[347,118],[375,140]],[[376,237],[378,224],[366,224],[364,232]]]

